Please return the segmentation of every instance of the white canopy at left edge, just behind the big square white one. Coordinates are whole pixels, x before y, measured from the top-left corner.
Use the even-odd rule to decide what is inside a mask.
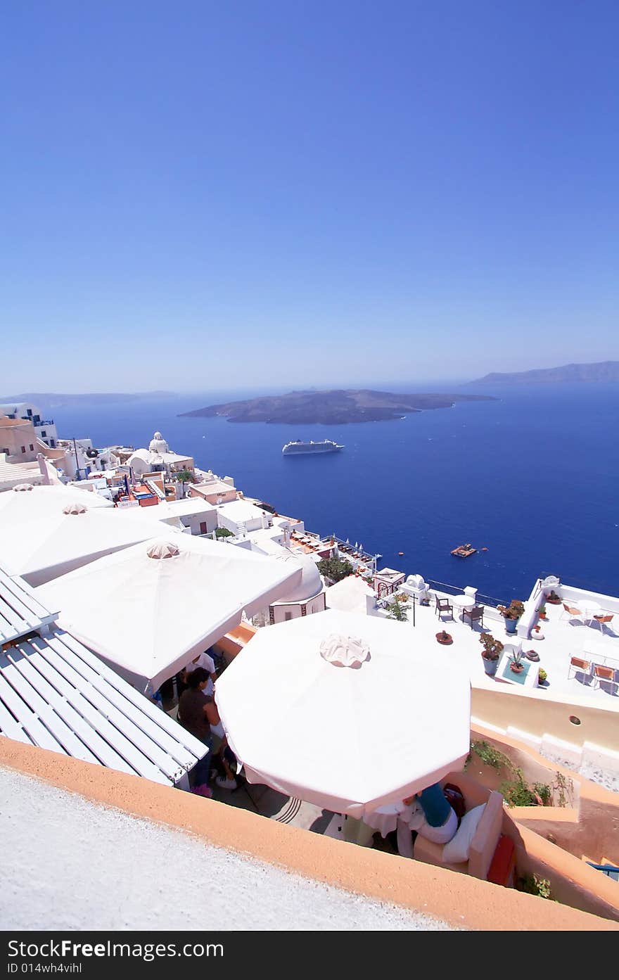
[[[0,494],[9,496],[19,501],[30,500],[32,494]],[[58,500],[53,508],[46,503],[24,520],[11,519],[9,508],[0,510],[0,562],[12,575],[21,575],[29,585],[42,585],[153,536],[153,524],[139,515],[122,519],[114,507],[91,507],[85,492],[81,497],[85,501]]]

